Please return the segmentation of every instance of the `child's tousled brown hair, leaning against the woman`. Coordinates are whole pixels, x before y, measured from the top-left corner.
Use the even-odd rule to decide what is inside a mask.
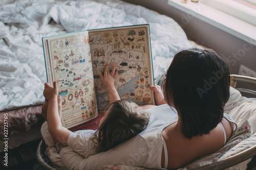
[[[150,121],[150,113],[131,101],[115,101],[104,122],[95,132],[100,151],[107,151],[143,131]]]

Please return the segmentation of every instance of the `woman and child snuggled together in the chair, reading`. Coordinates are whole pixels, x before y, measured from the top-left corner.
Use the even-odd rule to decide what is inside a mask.
[[[139,107],[120,100],[114,87],[117,72],[106,65],[100,79],[111,104],[98,130],[74,133],[61,126],[56,82],[45,84],[42,113],[50,134],[63,144],[57,149],[67,169],[117,164],[176,169],[219,150],[237,127],[224,113],[229,74],[227,61],[214,50],[180,51],[166,72],[163,92],[150,86],[157,106]]]

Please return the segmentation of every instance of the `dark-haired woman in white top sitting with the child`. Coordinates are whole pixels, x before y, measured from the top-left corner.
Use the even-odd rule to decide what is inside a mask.
[[[68,169],[101,169],[132,165],[175,169],[219,150],[237,127],[223,114],[229,99],[228,64],[213,50],[193,48],[177,53],[163,84],[150,86],[157,106],[147,128],[115,149],[84,159],[65,147],[60,156]]]

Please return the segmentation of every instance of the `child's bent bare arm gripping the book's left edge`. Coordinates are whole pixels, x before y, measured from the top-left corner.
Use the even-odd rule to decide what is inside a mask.
[[[44,96],[48,101],[47,108],[47,122],[48,131],[54,139],[60,143],[67,145],[68,137],[72,133],[70,130],[62,127],[59,117],[58,109],[58,88],[57,83],[53,83],[53,87],[50,84],[45,83]],[[60,97],[60,96],[59,96]]]

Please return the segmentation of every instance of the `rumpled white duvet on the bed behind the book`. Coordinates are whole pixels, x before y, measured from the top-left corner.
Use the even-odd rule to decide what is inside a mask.
[[[44,102],[41,37],[143,23],[150,24],[157,78],[177,51],[191,46],[172,18],[118,0],[25,0],[0,7],[0,110]]]

